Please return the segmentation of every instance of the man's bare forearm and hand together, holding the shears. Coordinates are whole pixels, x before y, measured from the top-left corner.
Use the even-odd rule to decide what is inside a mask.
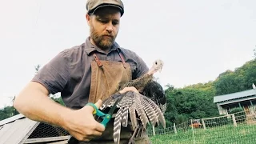
[[[70,110],[51,100],[48,95],[49,91],[45,86],[38,82],[29,82],[15,98],[14,107],[34,121],[62,126],[79,141],[90,141],[102,135],[105,127],[94,120],[92,106]],[[95,103],[97,107],[101,105],[101,100]]]

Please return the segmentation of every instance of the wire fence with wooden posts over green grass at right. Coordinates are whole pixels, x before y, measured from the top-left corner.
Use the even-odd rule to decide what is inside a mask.
[[[215,118],[190,119],[166,129],[148,131],[154,144],[256,143],[256,114],[244,111]]]

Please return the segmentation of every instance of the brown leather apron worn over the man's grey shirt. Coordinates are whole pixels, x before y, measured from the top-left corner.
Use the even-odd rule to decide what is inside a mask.
[[[109,98],[110,95],[118,92],[119,85],[122,85],[122,83],[128,82],[132,79],[130,65],[124,61],[124,58],[119,51],[118,54],[122,59],[122,62],[100,61],[97,55],[93,54],[95,61],[91,62],[91,85],[89,102],[97,102],[98,99],[102,99],[102,101],[104,101],[106,98]],[[90,142],[79,143],[114,144],[113,127],[114,118],[111,118],[110,122],[106,126],[106,130],[102,133],[101,137],[92,139]],[[133,130],[130,125],[128,125],[126,128],[122,127],[120,144],[128,143],[132,133]],[[142,137],[135,138],[135,142],[136,144],[150,143],[146,132],[142,134]]]

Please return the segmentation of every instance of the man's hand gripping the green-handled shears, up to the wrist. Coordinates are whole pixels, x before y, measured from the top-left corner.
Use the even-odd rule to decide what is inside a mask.
[[[101,105],[101,100],[95,103],[98,108]],[[70,114],[66,115],[68,118],[66,118],[66,126],[64,128],[78,141],[90,141],[101,136],[105,127],[95,121],[93,112],[94,108],[92,106],[84,106],[80,110],[70,111]]]

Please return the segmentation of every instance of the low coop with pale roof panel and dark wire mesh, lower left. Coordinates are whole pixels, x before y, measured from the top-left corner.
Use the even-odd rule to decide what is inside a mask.
[[[66,143],[70,134],[60,127],[35,122],[22,114],[0,121],[0,143]]]

